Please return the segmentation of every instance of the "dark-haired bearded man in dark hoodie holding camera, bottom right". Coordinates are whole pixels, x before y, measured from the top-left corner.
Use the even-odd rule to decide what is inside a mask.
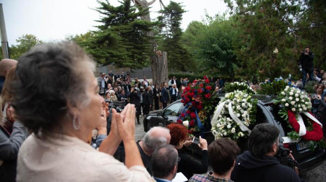
[[[293,161],[289,149],[279,148],[280,131],[270,123],[257,124],[248,137],[248,148],[243,154],[237,156],[231,174],[231,180],[241,181],[301,181],[298,168],[284,165],[284,161]],[[278,150],[281,152],[279,160],[276,158]],[[284,156],[284,154],[288,156]],[[282,155],[283,154],[283,155]],[[282,161],[282,164],[280,163]],[[293,166],[292,166],[293,167]]]

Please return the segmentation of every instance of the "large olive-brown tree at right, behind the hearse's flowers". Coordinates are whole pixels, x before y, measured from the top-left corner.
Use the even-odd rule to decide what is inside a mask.
[[[297,70],[300,42],[289,33],[301,13],[297,0],[241,0],[234,6],[234,28],[243,30],[234,44],[242,75],[279,77]],[[233,8],[236,7],[236,8]],[[298,45],[299,44],[299,45]],[[275,51],[275,49],[278,50]]]

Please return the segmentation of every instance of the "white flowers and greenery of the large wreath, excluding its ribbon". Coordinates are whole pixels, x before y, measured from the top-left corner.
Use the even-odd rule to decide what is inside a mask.
[[[248,136],[238,124],[230,117],[229,104],[232,104],[233,114],[240,119],[245,126],[251,126],[256,121],[257,99],[252,99],[251,94],[245,91],[234,91],[226,93],[219,104],[225,102],[218,119],[212,126],[212,133],[215,139],[228,137],[237,141],[240,137]],[[217,107],[216,107],[217,108]]]

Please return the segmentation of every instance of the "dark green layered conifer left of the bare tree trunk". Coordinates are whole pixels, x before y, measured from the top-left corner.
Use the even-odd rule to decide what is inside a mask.
[[[77,37],[79,44],[94,56],[98,63],[114,64],[121,67],[142,68],[149,64],[152,52],[152,38],[146,35],[155,23],[141,20],[148,9],[131,5],[130,0],[121,1],[114,7],[109,3],[98,1],[95,10],[102,17],[96,26],[99,30]]]

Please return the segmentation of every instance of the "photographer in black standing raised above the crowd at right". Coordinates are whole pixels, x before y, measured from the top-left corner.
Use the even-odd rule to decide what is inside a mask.
[[[304,86],[305,86],[305,82],[307,79],[307,73],[309,75],[308,80],[310,80],[310,81],[313,80],[314,57],[315,57],[315,54],[310,51],[309,47],[305,47],[304,51],[301,52],[301,56],[300,56],[298,65],[299,65],[299,68],[300,68],[300,65],[302,66],[302,74],[303,74],[302,83],[304,84]],[[300,69],[300,72],[301,72],[301,69]]]

